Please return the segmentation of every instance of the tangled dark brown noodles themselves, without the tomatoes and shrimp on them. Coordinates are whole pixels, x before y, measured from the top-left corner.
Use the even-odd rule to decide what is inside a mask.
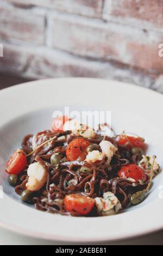
[[[55,139],[49,141],[54,136],[56,136]],[[100,153],[102,149],[99,147],[99,143],[103,140],[108,141],[114,145],[116,153],[108,165],[105,164],[107,157],[92,164],[86,162],[82,157],[71,161],[71,159],[67,159],[66,150],[76,139],[81,141],[84,139],[87,147],[88,145],[95,147],[93,145],[96,144]],[[46,141],[49,142],[45,143]],[[44,144],[38,147],[42,143]],[[32,153],[33,144],[36,149]],[[34,204],[35,209],[79,216],[82,214],[79,214],[78,211],[74,209],[67,211],[65,208],[64,200],[67,195],[82,195],[94,200],[94,198],[102,198],[106,192],[113,193],[122,208],[126,208],[130,203],[131,194],[145,190],[149,182],[148,177],[146,181],[140,183],[133,182],[127,177],[122,178],[118,174],[122,167],[128,166],[128,164],[139,164],[142,158],[141,154],[133,153],[133,147],[128,147],[128,145],[128,142],[118,143],[117,136],[102,136],[101,131],[98,131],[93,138],[85,138],[79,134],[74,135],[70,131],[52,132],[50,130],[39,132],[35,136],[27,135],[22,141],[22,150],[27,155],[27,164],[26,168],[17,174],[15,192],[21,195],[23,191],[27,190],[28,167],[37,162],[44,170],[46,169],[47,178],[45,184],[38,191],[31,192],[28,200],[25,200],[29,204]],[[84,148],[81,147],[80,151],[84,154]],[[93,204],[91,211],[85,215],[98,216],[96,204]]]

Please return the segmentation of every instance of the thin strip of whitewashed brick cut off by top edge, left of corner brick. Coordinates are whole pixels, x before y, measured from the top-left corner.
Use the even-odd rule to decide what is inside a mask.
[[[54,8],[68,13],[90,17],[101,17],[104,0],[8,0],[9,2],[25,5],[39,5]]]

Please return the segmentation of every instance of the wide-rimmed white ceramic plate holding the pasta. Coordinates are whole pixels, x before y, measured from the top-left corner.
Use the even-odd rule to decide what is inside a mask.
[[[146,138],[148,154],[162,159],[163,96],[152,90],[116,81],[60,78],[21,84],[0,91],[0,225],[29,236],[55,241],[97,242],[139,236],[163,228],[163,204],[159,199],[162,173],[154,179],[147,199],[108,217],[67,217],[47,214],[20,202],[6,181],[4,164],[20,147],[27,133],[50,129],[54,110],[111,111],[112,127]]]

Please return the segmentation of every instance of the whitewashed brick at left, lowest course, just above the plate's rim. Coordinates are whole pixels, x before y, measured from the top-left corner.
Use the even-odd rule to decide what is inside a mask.
[[[109,65],[47,50],[46,47],[25,47],[3,44],[4,57],[0,70],[22,74],[29,78],[62,76],[103,77],[109,74]]]

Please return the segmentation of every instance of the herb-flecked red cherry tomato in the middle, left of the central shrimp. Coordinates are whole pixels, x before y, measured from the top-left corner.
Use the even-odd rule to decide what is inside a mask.
[[[72,142],[70,142],[66,149],[66,157],[69,161],[77,160],[78,157],[82,161],[86,159],[86,148],[89,146],[90,143],[86,141],[85,139],[73,139]]]

